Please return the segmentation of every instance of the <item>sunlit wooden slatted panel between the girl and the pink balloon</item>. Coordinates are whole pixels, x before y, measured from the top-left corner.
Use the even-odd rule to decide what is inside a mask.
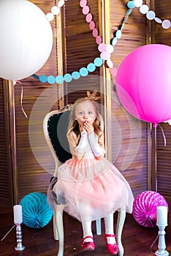
[[[128,10],[126,3],[121,0],[110,1],[111,38],[121,26]],[[128,53],[146,44],[146,20],[137,8],[132,10],[122,32],[113,53],[116,68]],[[129,181],[136,196],[148,189],[148,129],[145,122],[134,118],[122,108],[115,93],[115,78],[112,79],[112,110],[116,119],[112,124],[113,162]]]

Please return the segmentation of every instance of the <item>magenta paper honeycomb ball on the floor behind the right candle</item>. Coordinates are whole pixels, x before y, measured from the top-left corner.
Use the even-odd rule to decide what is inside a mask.
[[[132,215],[143,227],[156,227],[157,206],[167,206],[162,195],[154,191],[145,191],[134,198]]]

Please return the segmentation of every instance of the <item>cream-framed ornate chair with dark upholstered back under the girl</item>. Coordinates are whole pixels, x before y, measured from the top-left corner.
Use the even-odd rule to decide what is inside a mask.
[[[58,176],[58,166],[71,158],[69,151],[69,143],[66,138],[67,127],[69,124],[69,113],[72,105],[66,105],[61,110],[53,110],[44,118],[43,130],[47,145],[50,148],[55,160],[56,168],[54,171],[54,179]],[[102,121],[103,126],[103,121]],[[55,197],[54,202],[55,202]],[[55,204],[53,211],[53,235],[54,239],[59,242],[58,256],[64,255],[64,226],[63,226],[64,205]],[[121,234],[123,223],[126,217],[125,209],[118,211],[118,220],[116,226],[116,238],[119,246],[119,255],[123,256],[123,246],[121,243]],[[101,235],[101,219],[96,220],[96,234]]]

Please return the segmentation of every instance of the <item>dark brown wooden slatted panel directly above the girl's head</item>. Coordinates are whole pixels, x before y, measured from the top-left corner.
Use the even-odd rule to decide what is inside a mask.
[[[96,39],[89,29],[79,3],[77,0],[65,2],[66,72],[70,74],[79,71],[81,67],[87,67],[88,63],[94,62],[99,56]],[[98,1],[88,1],[88,6],[98,29]],[[89,73],[86,78],[82,77],[66,84],[66,102],[73,103],[79,97],[86,97],[86,91],[94,89],[100,91],[99,68]]]

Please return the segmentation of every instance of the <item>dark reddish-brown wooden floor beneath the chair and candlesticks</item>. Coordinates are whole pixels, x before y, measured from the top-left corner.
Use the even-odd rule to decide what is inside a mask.
[[[116,223],[117,214],[114,216]],[[166,231],[167,251],[171,255],[171,214],[169,214]],[[11,210],[1,208],[0,211],[0,238],[2,238],[10,227],[13,226],[13,214]],[[97,236],[95,222],[92,224],[94,242],[96,249],[91,252],[83,252],[80,248],[82,239],[82,227],[80,222],[64,214],[64,256],[108,256],[102,236]],[[0,241],[1,256],[56,256],[58,252],[58,241],[53,240],[52,222],[41,229],[31,229],[22,224],[23,245],[26,246],[21,252],[15,251],[16,236],[15,228],[3,241]],[[104,222],[102,221],[102,233],[104,233]],[[126,222],[123,227],[124,256],[151,256],[151,244],[158,233],[157,228],[142,227],[135,222],[131,214],[126,215]],[[153,246],[156,252],[157,242]]]

